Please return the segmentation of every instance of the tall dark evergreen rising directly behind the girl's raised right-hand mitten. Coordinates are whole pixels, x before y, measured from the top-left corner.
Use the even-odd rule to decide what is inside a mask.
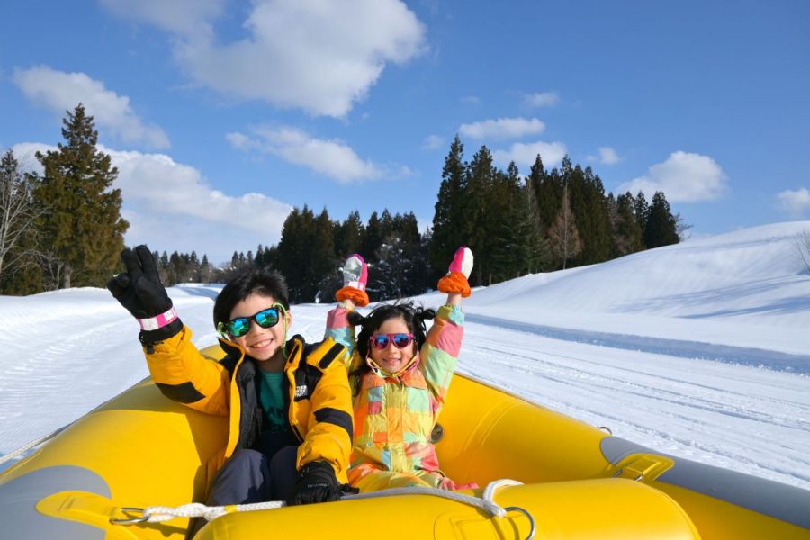
[[[442,168],[442,183],[433,214],[429,258],[435,268],[446,268],[456,247],[469,241],[468,233],[472,228],[465,211],[466,168],[464,145],[456,135]]]

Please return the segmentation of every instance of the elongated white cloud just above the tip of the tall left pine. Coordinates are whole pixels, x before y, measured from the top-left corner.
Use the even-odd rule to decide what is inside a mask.
[[[60,115],[83,103],[87,113],[94,117],[96,128],[122,142],[143,143],[150,148],[171,146],[164,130],[139,119],[129,97],[107,90],[102,82],[84,73],[65,73],[47,66],[17,69],[14,84],[32,102]]]

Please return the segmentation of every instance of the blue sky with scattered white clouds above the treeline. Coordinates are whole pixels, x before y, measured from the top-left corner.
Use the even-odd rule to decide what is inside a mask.
[[[47,14],[44,16],[43,14]],[[459,133],[663,189],[696,235],[810,215],[810,3],[100,0],[5,6],[0,148],[79,101],[126,240],[228,260],[293,206],[433,218]]]

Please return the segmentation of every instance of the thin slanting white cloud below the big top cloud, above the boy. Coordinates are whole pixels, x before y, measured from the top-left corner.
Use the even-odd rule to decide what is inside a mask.
[[[295,165],[305,166],[320,175],[349,184],[359,180],[371,180],[385,175],[383,168],[371,161],[361,159],[351,147],[339,139],[315,139],[308,133],[292,127],[254,129],[259,139],[251,139],[243,133],[229,133],[226,139],[240,150],[260,150],[282,157]],[[400,169],[396,175],[402,175]]]

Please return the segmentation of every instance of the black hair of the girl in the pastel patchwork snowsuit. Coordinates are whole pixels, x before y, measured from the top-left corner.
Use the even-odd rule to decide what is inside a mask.
[[[405,320],[408,331],[414,337],[413,347],[415,348],[413,352],[416,354],[422,348],[425,339],[428,338],[425,321],[434,317],[436,317],[436,311],[426,310],[414,302],[406,301],[379,305],[365,317],[356,311],[352,311],[348,315],[348,322],[354,326],[360,325],[360,333],[357,335],[357,353],[365,360],[368,357],[369,339],[374,332],[383,326],[383,322],[386,320],[400,318]],[[356,371],[349,375],[363,375],[370,369],[364,361]]]

